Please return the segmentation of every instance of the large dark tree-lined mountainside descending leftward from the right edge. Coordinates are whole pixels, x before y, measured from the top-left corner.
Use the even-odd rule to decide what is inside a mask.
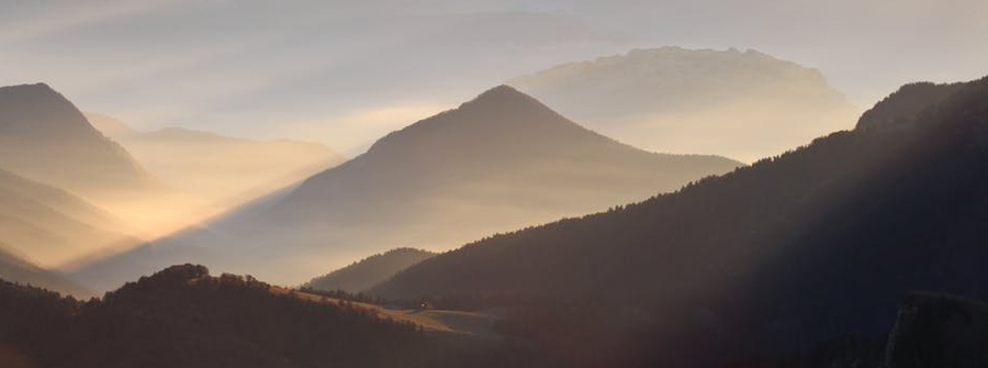
[[[883,336],[890,306],[910,290],[988,297],[988,78],[933,94],[876,105],[906,107],[883,119],[892,124],[865,123],[675,193],[474,242],[371,293],[554,300],[519,328],[544,344],[568,341],[562,352],[599,347],[583,356],[587,366],[717,366]],[[568,309],[568,300],[586,304]]]

